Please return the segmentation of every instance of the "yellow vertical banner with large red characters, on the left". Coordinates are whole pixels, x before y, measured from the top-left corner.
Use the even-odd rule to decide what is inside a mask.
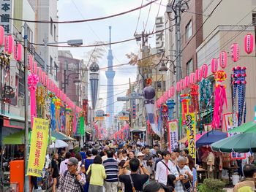
[[[34,118],[27,174],[41,177],[49,138],[49,120]]]

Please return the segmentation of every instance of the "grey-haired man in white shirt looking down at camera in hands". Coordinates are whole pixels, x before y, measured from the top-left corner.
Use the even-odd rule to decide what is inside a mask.
[[[190,192],[192,191],[193,174],[187,164],[187,158],[183,156],[178,157],[178,165],[173,166],[172,173],[176,176],[176,192]]]

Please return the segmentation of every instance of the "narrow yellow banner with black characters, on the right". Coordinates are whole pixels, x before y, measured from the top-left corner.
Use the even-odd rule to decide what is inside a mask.
[[[189,155],[195,158],[195,113],[187,113],[186,115],[187,125],[187,140],[189,142]]]

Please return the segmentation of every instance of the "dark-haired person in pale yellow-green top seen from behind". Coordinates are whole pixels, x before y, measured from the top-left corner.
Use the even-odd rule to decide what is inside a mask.
[[[94,158],[94,163],[89,166],[86,174],[89,174],[91,171],[89,192],[102,192],[103,191],[103,182],[105,180],[106,172],[105,167],[102,165],[102,158],[96,156]]]

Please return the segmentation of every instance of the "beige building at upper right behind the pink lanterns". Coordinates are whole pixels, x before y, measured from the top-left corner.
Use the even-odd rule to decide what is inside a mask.
[[[230,9],[230,4],[236,4]],[[217,7],[217,8],[216,8]],[[232,94],[230,84],[230,74],[234,66],[246,66],[246,120],[253,120],[255,115],[256,91],[255,77],[255,50],[251,55],[244,51],[244,37],[246,34],[255,34],[255,1],[227,0],[220,4],[214,1],[203,1],[203,42],[197,47],[197,67],[203,64],[210,64],[211,58],[219,58],[219,53],[226,50],[230,55],[230,46],[238,43],[240,47],[240,58],[238,62],[233,62],[230,56],[227,57],[227,80],[225,80],[227,92],[227,110],[232,111]],[[210,70],[209,70],[210,71]],[[211,73],[211,72],[210,72]]]

